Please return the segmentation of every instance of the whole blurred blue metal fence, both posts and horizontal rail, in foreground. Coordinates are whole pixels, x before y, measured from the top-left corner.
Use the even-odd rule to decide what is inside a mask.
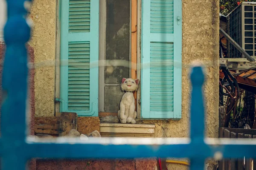
[[[2,170],[25,170],[31,158],[189,158],[191,170],[203,170],[207,158],[256,158],[256,141],[204,139],[203,68],[192,67],[190,139],[52,139],[27,137],[27,53],[30,27],[24,16],[24,0],[7,0],[8,20],[4,28],[6,55],[3,65],[0,156]],[[27,1],[26,6],[28,5]],[[235,149],[234,149],[235,148]]]

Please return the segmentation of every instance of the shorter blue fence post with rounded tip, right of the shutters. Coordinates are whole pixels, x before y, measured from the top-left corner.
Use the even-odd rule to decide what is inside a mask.
[[[194,145],[193,153],[195,157],[191,158],[191,170],[203,170],[204,169],[204,156],[199,156],[207,152],[207,150],[201,150],[204,148],[204,99],[202,87],[204,84],[203,68],[199,64],[192,66],[191,72],[192,94],[191,94],[191,125],[190,125],[190,138],[191,144]],[[198,155],[198,156],[197,156]]]

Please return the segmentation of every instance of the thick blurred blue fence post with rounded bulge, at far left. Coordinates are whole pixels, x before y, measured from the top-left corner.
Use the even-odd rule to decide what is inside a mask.
[[[1,108],[2,169],[24,170],[26,163],[27,50],[30,27],[24,6],[31,1],[6,0],[7,22],[4,28],[6,53],[3,64]],[[26,151],[25,151],[26,152]]]

